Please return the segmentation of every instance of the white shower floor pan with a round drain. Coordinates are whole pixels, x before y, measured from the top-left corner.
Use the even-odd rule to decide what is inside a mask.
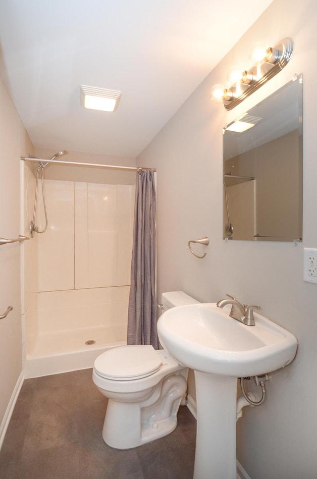
[[[40,334],[32,354],[26,355],[25,377],[92,368],[101,353],[126,344],[126,330],[126,325],[98,326]]]

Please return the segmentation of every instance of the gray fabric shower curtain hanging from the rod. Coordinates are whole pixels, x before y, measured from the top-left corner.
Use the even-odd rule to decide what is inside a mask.
[[[154,171],[137,172],[127,344],[159,347],[155,295],[156,192]]]

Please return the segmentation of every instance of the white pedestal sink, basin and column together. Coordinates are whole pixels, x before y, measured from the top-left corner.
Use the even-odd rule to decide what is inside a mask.
[[[197,439],[194,479],[236,479],[237,378],[270,373],[293,361],[297,339],[254,313],[255,326],[215,303],[172,308],[158,320],[159,340],[195,372]]]

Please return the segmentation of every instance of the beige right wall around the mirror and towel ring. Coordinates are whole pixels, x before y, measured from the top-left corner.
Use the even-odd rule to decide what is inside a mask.
[[[193,92],[138,164],[158,168],[158,292],[184,290],[200,301],[226,293],[259,304],[264,316],[293,332],[297,357],[272,373],[267,400],[238,422],[238,460],[252,479],[316,477],[317,285],[303,282],[303,247],[317,247],[317,161],[312,101],[317,75],[317,3],[275,0]],[[210,102],[210,89],[233,65],[248,64],[256,42],[294,39],[289,65],[232,111]],[[222,127],[265,96],[304,74],[303,243],[222,239]],[[190,239],[210,237],[208,255],[195,258]]]

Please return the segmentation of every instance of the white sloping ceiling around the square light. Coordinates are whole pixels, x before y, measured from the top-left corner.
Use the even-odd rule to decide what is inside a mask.
[[[136,157],[271,1],[0,0],[0,75],[36,148]]]

